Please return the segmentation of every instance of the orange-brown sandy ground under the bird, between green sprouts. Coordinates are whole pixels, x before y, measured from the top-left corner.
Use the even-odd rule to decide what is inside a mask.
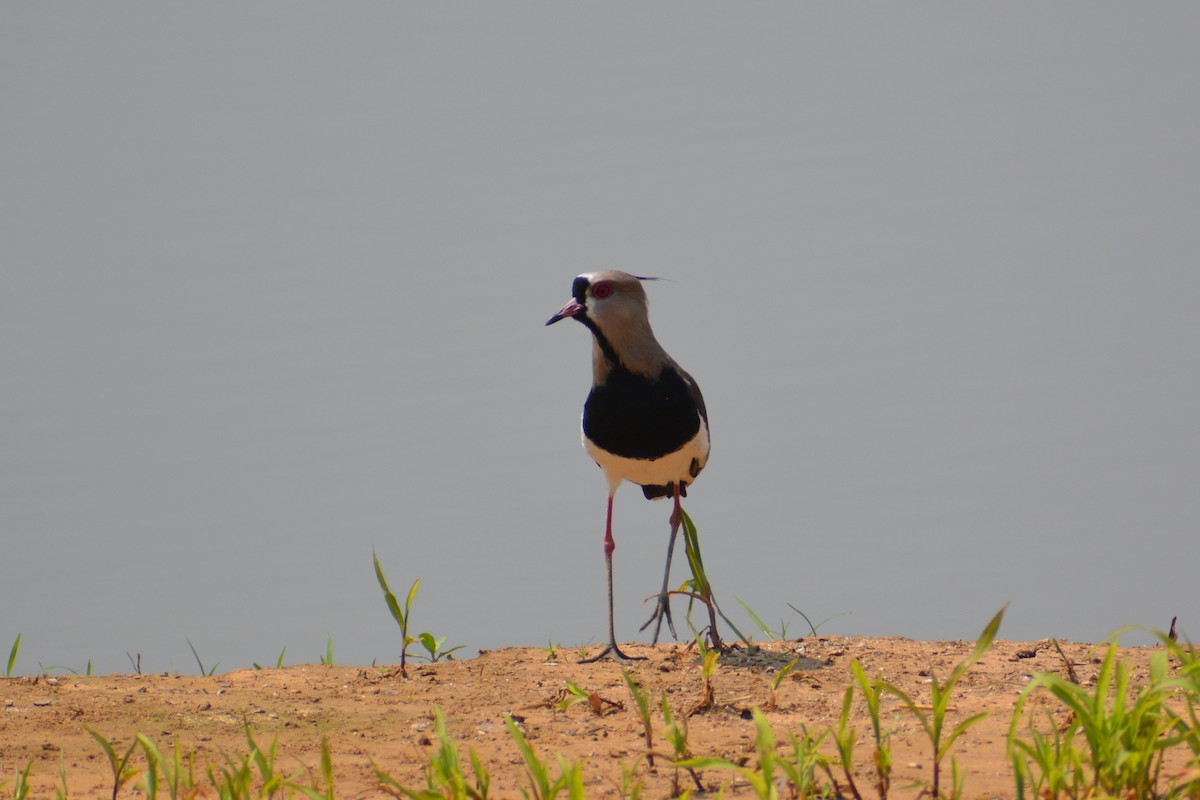
[[[764,645],[780,654],[803,652],[823,666],[786,676],[767,717],[781,744],[802,724],[810,729],[835,724],[842,693],[851,681],[850,664],[859,660],[869,675],[882,673],[914,697],[929,698],[929,675],[944,678],[972,649],[970,642],[913,642],[902,638],[818,637]],[[1092,645],[1062,643],[1087,684],[1099,668]],[[595,648],[592,648],[595,651]],[[630,655],[647,656],[630,670],[655,700],[665,692],[677,714],[695,706],[703,679],[694,650],[670,644],[628,645]],[[1152,649],[1124,651],[1144,679]],[[223,754],[246,752],[244,722],[260,746],[278,741],[278,769],[312,770],[317,777],[322,739],[329,741],[338,798],[386,796],[372,763],[407,786],[422,786],[422,765],[436,744],[432,711],[440,706],[458,742],[466,768],[472,747],[492,776],[492,796],[520,796],[526,783],[517,748],[505,730],[504,712],[521,721],[544,757],[562,753],[586,759],[588,796],[618,796],[623,769],[642,781],[644,796],[672,792],[674,770],[664,759],[650,768],[643,756],[642,727],[613,662],[577,663],[578,651],[514,648],[481,652],[466,661],[409,664],[407,680],[394,668],[295,666],[244,669],[215,676],[106,675],[37,676],[0,680],[0,780],[12,790],[13,772],[34,762],[32,796],[54,796],[60,760],[65,760],[71,796],[112,795],[112,774],[103,751],[88,734],[92,728],[114,744],[128,746],[137,733],[150,736],[163,752],[180,742],[199,764],[223,763]],[[955,745],[966,769],[967,798],[1014,794],[1004,740],[1018,693],[1034,672],[1064,673],[1066,663],[1049,642],[997,642],[967,673],[953,699],[952,721],[977,711],[989,716]],[[596,714],[588,703],[566,710],[551,708],[568,681],[596,694]],[[714,678],[714,705],[689,718],[696,756],[721,756],[755,764],[750,709],[766,706],[769,673],[763,668],[721,663]],[[917,796],[930,778],[928,740],[904,706],[884,700],[884,720],[893,724],[895,770],[892,796]],[[655,714],[655,748],[667,745]],[[854,705],[859,732],[857,754],[860,789],[874,798],[869,778],[869,727],[860,703]],[[145,760],[134,756],[136,766]],[[202,770],[198,769],[198,772]],[[556,770],[557,774],[557,770]],[[686,777],[686,776],[684,776]],[[704,789],[725,787],[725,796],[750,796],[733,772],[707,770]],[[121,796],[142,796],[140,777]],[[690,778],[686,778],[690,784]],[[109,787],[107,790],[104,787]],[[695,787],[692,787],[695,788]],[[211,795],[210,795],[211,796]]]

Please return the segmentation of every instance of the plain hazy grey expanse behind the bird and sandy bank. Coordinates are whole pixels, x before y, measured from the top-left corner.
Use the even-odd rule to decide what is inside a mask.
[[[1195,638],[1196,41],[1189,4],[7,4],[0,642],[394,661],[372,547],[468,652],[602,639],[590,345],[542,323],[605,267],[670,278],[738,619]],[[618,494],[622,640],[667,513]]]

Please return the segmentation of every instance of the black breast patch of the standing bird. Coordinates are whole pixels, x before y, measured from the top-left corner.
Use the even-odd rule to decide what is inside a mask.
[[[614,366],[583,404],[583,434],[625,458],[659,458],[688,444],[700,431],[700,410],[674,369],[656,379]]]

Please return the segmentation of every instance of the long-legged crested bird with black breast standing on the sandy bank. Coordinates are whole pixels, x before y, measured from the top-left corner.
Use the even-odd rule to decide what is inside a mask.
[[[664,618],[671,634],[671,555],[683,519],[679,499],[708,463],[708,409],[695,379],[667,355],[650,329],[643,282],[655,278],[606,270],[586,272],[571,284],[571,299],[546,325],[574,319],[592,331],[592,390],[583,403],[583,447],[608,482],[604,554],[608,584],[608,643],[596,656],[634,661],[617,645],[612,614],[612,504],[622,482],[642,487],[648,500],[670,498],[671,539],[652,622],[658,643]]]

